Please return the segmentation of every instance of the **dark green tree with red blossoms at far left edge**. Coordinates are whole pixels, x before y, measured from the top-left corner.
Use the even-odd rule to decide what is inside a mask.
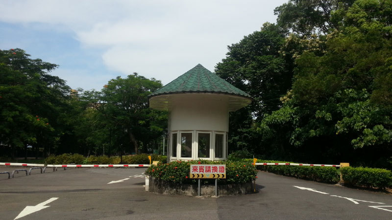
[[[0,50],[0,141],[16,148],[52,144],[53,115],[67,97],[65,81],[49,72],[55,64],[29,59],[22,49]],[[55,123],[54,123],[55,124]]]

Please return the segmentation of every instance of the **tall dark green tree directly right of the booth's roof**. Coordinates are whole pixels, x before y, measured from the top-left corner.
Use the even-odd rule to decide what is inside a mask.
[[[250,106],[230,114],[229,143],[235,144],[232,147],[251,149],[258,145],[253,118],[260,121],[264,114],[278,110],[279,97],[291,86],[293,60],[279,53],[284,40],[278,26],[265,23],[260,31],[228,46],[226,58],[216,66],[221,78],[254,100]]]

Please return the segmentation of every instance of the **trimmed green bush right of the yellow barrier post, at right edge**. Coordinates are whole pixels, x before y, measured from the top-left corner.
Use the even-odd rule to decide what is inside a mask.
[[[340,170],[344,182],[353,186],[392,188],[392,172],[389,170],[364,167],[342,167]]]

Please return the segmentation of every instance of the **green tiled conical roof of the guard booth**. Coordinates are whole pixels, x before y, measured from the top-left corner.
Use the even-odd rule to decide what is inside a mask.
[[[235,88],[221,77],[198,64],[168,85],[154,91],[149,98],[175,93],[225,93],[251,99],[243,90]]]

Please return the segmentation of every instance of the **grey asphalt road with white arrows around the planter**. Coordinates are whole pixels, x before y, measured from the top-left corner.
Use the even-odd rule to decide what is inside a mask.
[[[0,167],[0,172],[12,170]],[[79,168],[40,174],[33,170],[31,176],[20,172],[11,179],[2,174],[0,219],[13,220],[32,211],[20,219],[392,219],[392,195],[380,192],[259,172],[255,194],[166,196],[144,190],[144,171]],[[108,184],[118,180],[123,181]]]

